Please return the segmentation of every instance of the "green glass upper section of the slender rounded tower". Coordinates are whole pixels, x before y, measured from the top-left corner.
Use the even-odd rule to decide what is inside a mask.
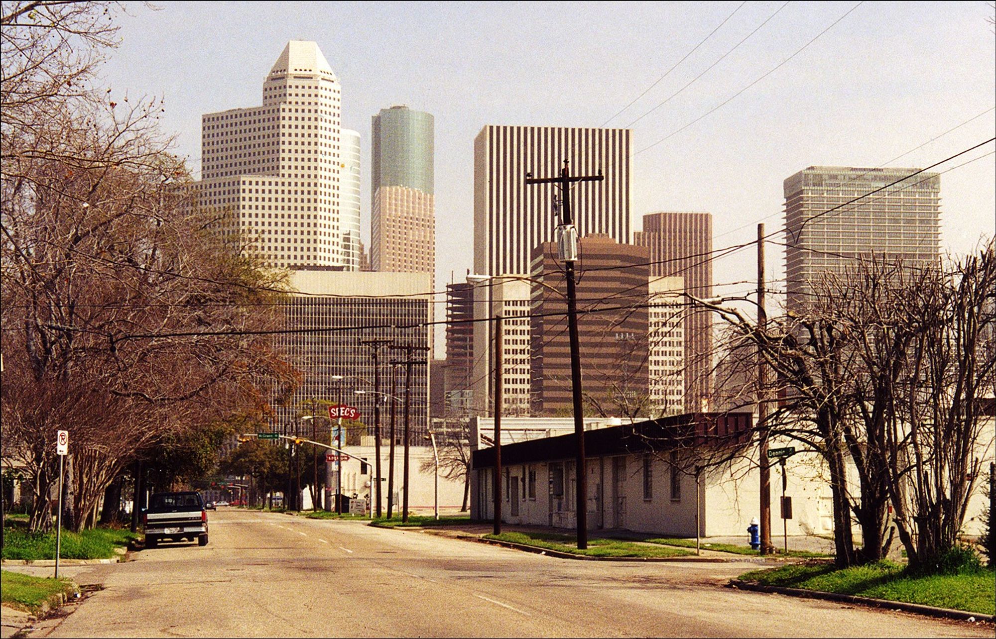
[[[381,108],[373,116],[372,191],[406,186],[432,194],[433,126],[430,113],[407,106]]]

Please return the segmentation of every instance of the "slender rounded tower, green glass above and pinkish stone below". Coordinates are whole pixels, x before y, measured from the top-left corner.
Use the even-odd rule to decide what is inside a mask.
[[[371,264],[435,273],[433,118],[407,106],[373,115]]]

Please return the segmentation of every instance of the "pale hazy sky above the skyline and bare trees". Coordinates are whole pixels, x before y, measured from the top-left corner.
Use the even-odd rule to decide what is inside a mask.
[[[367,246],[371,117],[432,113],[437,289],[472,265],[473,139],[486,124],[631,128],[632,229],[646,213],[707,211],[716,249],[751,242],[759,222],[781,229],[783,180],[808,166],[921,168],[996,136],[982,0],[125,8],[104,80],[114,96],[164,99],[164,130],[195,172],[201,114],[260,105],[287,41],[317,42],[342,84],[342,124],[362,136]],[[996,233],[994,146],[933,169],[968,162],[940,178],[945,253]],[[717,260],[716,294],[752,290],[755,265],[752,247]],[[777,244],[767,272],[781,289]]]

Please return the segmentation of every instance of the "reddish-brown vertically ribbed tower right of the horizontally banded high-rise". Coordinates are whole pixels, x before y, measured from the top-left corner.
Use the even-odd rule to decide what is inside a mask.
[[[643,230],[633,244],[650,250],[650,277],[684,278],[685,290],[712,297],[712,214],[660,212],[643,216]],[[688,312],[684,320],[685,410],[709,410],[712,394],[712,318]]]

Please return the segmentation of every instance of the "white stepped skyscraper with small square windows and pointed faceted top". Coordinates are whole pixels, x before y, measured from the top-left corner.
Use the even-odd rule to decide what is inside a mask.
[[[202,117],[199,204],[239,250],[271,267],[352,268],[341,179],[340,84],[314,42],[292,40],[263,105]]]

